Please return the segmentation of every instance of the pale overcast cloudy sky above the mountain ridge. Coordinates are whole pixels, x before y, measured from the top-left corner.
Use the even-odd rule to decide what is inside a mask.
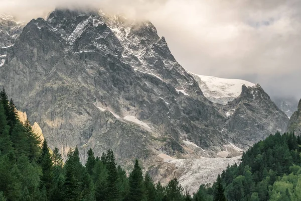
[[[300,0],[0,0],[0,13],[29,21],[66,6],[147,19],[187,70],[301,98]]]

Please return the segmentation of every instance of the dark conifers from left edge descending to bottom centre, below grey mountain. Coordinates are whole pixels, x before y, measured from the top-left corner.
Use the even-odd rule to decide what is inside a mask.
[[[142,175],[138,160],[127,173],[116,165],[112,150],[101,157],[88,151],[85,164],[78,148],[63,162],[47,140],[41,142],[29,121],[21,123],[13,100],[0,92],[0,201],[4,200],[192,200],[175,178],[166,186]]]

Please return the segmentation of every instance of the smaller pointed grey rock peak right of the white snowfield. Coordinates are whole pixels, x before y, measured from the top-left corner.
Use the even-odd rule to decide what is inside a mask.
[[[276,131],[285,132],[288,123],[287,116],[259,84],[243,85],[239,97],[222,108],[228,116],[222,133],[227,133],[233,144],[245,149]]]

